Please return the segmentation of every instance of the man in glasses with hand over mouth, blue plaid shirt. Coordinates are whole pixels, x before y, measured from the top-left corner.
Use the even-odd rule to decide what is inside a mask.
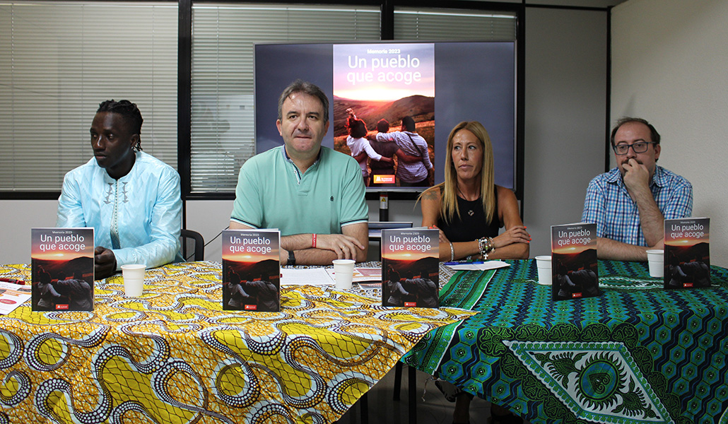
[[[660,134],[644,119],[617,121],[612,149],[617,167],[589,183],[582,221],[596,223],[601,259],[645,261],[663,248],[664,220],[692,214],[692,185],[657,166]]]

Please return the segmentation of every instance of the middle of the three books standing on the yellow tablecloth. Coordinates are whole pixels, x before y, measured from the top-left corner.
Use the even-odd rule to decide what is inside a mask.
[[[280,311],[280,231],[223,230],[223,310]]]

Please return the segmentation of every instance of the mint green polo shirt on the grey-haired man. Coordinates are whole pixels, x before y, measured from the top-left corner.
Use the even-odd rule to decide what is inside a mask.
[[[301,174],[280,146],[242,165],[230,219],[278,228],[281,236],[341,234],[344,225],[368,221],[364,193],[352,156],[322,147],[319,159]]]

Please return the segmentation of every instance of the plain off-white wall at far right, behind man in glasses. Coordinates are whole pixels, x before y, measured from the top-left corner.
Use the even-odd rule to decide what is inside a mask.
[[[647,119],[659,164],[711,217],[711,263],[728,265],[728,1],[630,0],[612,9],[612,120]]]

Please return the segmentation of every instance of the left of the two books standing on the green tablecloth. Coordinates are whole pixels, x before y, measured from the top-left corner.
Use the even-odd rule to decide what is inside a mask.
[[[551,297],[601,295],[596,262],[596,224],[551,225]]]

